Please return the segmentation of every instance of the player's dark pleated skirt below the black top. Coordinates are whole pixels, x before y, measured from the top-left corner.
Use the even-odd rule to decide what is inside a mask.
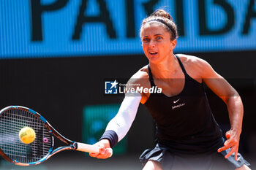
[[[222,152],[214,152],[207,155],[175,155],[168,147],[163,144],[157,144],[153,150],[145,150],[140,155],[140,161],[143,166],[147,161],[158,161],[161,163],[163,170],[182,169],[182,170],[221,170],[221,169],[236,169],[238,167],[249,166],[250,164],[238,153],[238,161],[235,160],[235,154],[230,155],[225,159],[225,155],[230,150]]]

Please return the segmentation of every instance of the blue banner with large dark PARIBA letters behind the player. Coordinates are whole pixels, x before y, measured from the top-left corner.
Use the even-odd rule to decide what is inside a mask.
[[[0,58],[143,54],[143,18],[164,8],[176,53],[256,49],[254,0],[1,0]]]

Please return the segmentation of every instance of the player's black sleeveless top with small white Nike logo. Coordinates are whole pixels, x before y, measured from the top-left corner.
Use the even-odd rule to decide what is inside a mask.
[[[176,96],[151,93],[145,103],[157,127],[157,140],[176,154],[217,152],[223,146],[222,131],[212,115],[203,83],[185,76],[184,88]],[[151,87],[156,86],[148,65]]]

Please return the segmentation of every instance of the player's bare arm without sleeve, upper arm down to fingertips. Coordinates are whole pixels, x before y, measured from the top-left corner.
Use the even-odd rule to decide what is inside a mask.
[[[214,69],[206,61],[200,61],[201,75],[203,82],[206,83],[219,98],[227,105],[227,110],[230,119],[230,130],[226,132],[227,140],[224,147],[219,148],[218,152],[230,148],[230,152],[225,155],[228,158],[235,152],[235,159],[237,161],[239,139],[242,130],[242,122],[244,115],[244,107],[241,97],[238,92],[225,80],[222,76],[217,74]]]

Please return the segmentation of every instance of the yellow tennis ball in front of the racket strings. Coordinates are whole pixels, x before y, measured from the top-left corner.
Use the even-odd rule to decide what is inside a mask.
[[[26,126],[20,129],[19,136],[23,143],[30,144],[36,138],[36,133],[33,128]]]

